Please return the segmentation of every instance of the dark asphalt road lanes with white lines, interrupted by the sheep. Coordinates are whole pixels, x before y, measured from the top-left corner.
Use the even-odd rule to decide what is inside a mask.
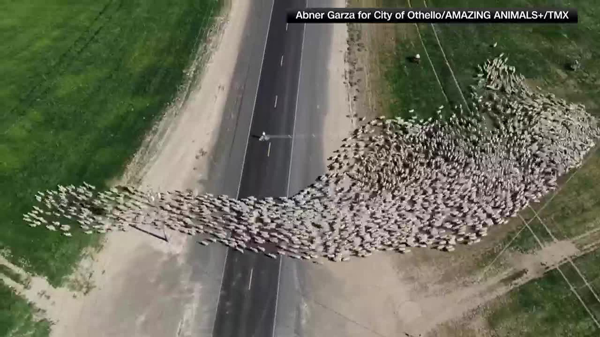
[[[305,0],[275,0],[272,4],[239,198],[289,194],[293,137],[260,142],[257,136],[294,133],[304,25],[287,25],[286,10],[305,5]],[[214,337],[274,335],[280,268],[280,258],[228,249]]]

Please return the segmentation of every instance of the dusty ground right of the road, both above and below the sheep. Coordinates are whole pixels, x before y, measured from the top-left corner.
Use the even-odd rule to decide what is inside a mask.
[[[361,1],[357,3],[361,5]],[[342,46],[346,39],[349,45]],[[325,157],[352,129],[344,116],[355,116],[355,123],[361,116],[372,118],[386,113],[383,98],[387,88],[377,68],[377,53],[385,53],[380,49],[393,46],[394,39],[395,34],[386,25],[350,25],[346,31],[337,31],[334,40],[339,47],[334,49],[346,50],[345,83],[351,104],[338,103],[344,109],[332,110],[326,116],[324,134],[332,137],[324,146]],[[332,62],[340,59],[333,56]],[[329,67],[331,70],[331,64]],[[339,83],[330,86],[332,93],[342,90]],[[335,96],[332,94],[330,100],[338,99]],[[518,222],[497,228],[485,242],[458,248],[453,254],[413,249],[406,255],[380,252],[347,263],[307,263],[307,336],[425,335],[440,323],[461,318],[583,252],[577,248],[577,240],[551,243],[535,254],[505,252],[497,260],[500,267],[486,269],[482,275],[481,266],[474,264],[476,258],[516,225]]]

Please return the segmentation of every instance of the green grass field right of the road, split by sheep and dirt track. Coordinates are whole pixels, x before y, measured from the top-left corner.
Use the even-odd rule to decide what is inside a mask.
[[[425,0],[427,7],[575,7],[579,10],[576,25],[465,25],[436,24],[437,38],[452,68],[449,70],[430,24],[419,24],[419,34],[414,24],[395,27],[396,43],[393,50],[386,47],[386,57],[380,64],[385,72],[385,83],[390,96],[389,106],[382,107],[389,115],[409,117],[409,109],[418,116],[431,116],[440,104],[445,103],[443,93],[452,103],[461,103],[461,92],[469,97],[467,88],[472,83],[475,67],[486,59],[505,53],[509,64],[515,65],[532,86],[553,92],[558,97],[586,104],[588,112],[600,117],[600,2],[591,0],[528,1],[528,0]],[[411,0],[412,7],[426,7],[424,0]],[[364,1],[362,2],[364,5]],[[409,7],[408,0],[374,0],[377,7]],[[389,34],[389,33],[385,33]],[[422,41],[421,41],[422,40]],[[491,47],[493,43],[497,46]],[[423,47],[425,46],[425,48]],[[427,50],[427,52],[425,52]],[[421,54],[421,63],[415,65],[407,57]],[[431,69],[428,57],[436,71]],[[565,64],[578,58],[583,65],[580,71],[566,71]],[[456,85],[452,73],[457,79]],[[459,89],[460,88],[460,89]],[[459,91],[460,90],[460,91]],[[565,179],[566,180],[566,179]],[[553,242],[545,229],[558,240],[585,237],[595,233],[600,225],[600,151],[591,155],[586,165],[563,186],[562,191],[539,212],[541,221],[530,223],[533,232],[544,245]],[[548,200],[549,197],[546,198]],[[539,205],[536,207],[539,209]],[[533,212],[524,211],[526,219]],[[482,265],[514,237],[522,227],[518,218],[513,220],[515,230],[506,234],[498,246],[484,254]],[[545,225],[545,226],[544,226]],[[584,239],[578,239],[583,240]],[[597,239],[596,239],[597,240]],[[588,240],[589,241],[589,240]],[[589,242],[587,242],[589,243]],[[578,245],[580,246],[580,245]],[[583,245],[582,245],[583,246]],[[509,249],[533,252],[539,249],[538,241],[529,230],[523,230]],[[596,294],[600,291],[600,253],[587,252],[574,259]],[[566,263],[560,270],[577,289],[587,307],[600,321],[600,302],[579,273]],[[476,317],[485,322],[491,336],[599,336],[600,330],[590,314],[570,290],[565,279],[554,269],[542,278],[510,291],[499,299],[480,308]],[[473,317],[467,318],[472,320]],[[433,336],[433,335],[432,335]],[[435,336],[482,336],[470,329],[452,330]]]

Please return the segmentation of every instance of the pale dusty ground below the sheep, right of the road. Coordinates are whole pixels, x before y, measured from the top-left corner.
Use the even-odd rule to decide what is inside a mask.
[[[570,241],[535,254],[507,252],[503,268],[488,270],[479,281],[481,270],[473,272],[469,261],[487,248],[463,247],[454,254],[380,252],[347,263],[310,265],[309,336],[425,335],[582,253]]]

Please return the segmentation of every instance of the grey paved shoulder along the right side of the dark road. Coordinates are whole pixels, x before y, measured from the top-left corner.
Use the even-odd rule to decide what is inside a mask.
[[[331,0],[308,0],[308,7],[335,7],[337,4]],[[333,48],[333,28],[334,25],[327,23],[311,23],[304,28],[294,124],[296,138],[288,180],[290,194],[295,194],[325,173],[323,123],[325,113],[336,108],[328,106],[328,81],[332,74],[329,73],[327,62]],[[331,80],[343,82],[344,79],[334,77]],[[311,306],[308,305],[312,301],[308,280],[313,275],[304,267],[307,261],[287,257],[281,261],[274,336],[305,336],[305,333],[311,333],[311,327],[305,327],[304,324],[311,322],[311,314],[316,314],[309,312]],[[322,315],[323,312],[320,311],[319,314]],[[337,319],[339,318],[331,317],[332,321]]]

